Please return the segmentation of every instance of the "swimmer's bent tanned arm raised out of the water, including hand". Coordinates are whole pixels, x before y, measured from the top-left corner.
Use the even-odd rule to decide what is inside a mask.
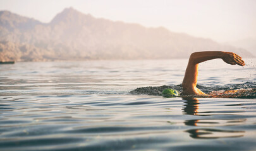
[[[190,55],[188,66],[186,67],[185,76],[182,82],[183,95],[204,94],[197,86],[198,64],[211,59],[222,59],[227,64],[245,65],[239,55],[233,52],[195,52]]]

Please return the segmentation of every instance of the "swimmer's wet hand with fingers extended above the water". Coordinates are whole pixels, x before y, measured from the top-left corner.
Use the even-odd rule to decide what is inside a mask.
[[[245,65],[245,62],[241,59],[239,55],[236,55],[236,53],[233,52],[224,52],[221,59],[226,62],[227,64],[231,65]]]

